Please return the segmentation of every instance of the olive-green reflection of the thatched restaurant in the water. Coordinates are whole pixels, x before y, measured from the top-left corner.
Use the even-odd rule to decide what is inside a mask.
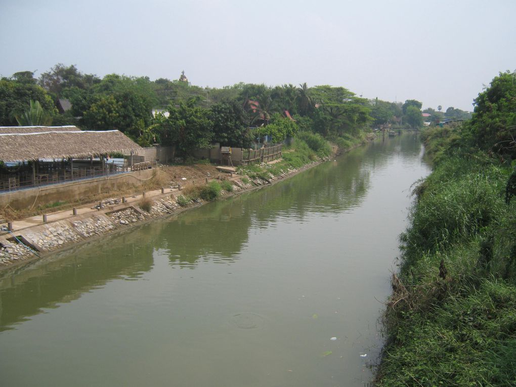
[[[99,249],[86,246],[36,262],[0,277],[0,331],[71,302],[115,279],[134,280],[152,268],[148,233],[112,236],[98,241]]]

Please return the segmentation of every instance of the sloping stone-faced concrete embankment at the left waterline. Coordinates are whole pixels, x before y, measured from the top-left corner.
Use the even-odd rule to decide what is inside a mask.
[[[299,169],[289,169],[278,176],[270,178],[249,179],[244,183],[244,176],[230,179],[233,192],[222,191],[222,197],[227,198],[238,193],[250,191],[293,176],[321,162],[313,162]],[[57,250],[83,243],[107,233],[121,231],[132,225],[141,224],[158,217],[169,216],[185,209],[204,204],[202,200],[190,201],[186,206],[177,202],[182,194],[177,188],[148,191],[146,195],[127,198],[122,203],[119,198],[105,199],[100,203],[77,209],[77,215],[72,211],[50,214],[47,222],[42,217],[33,217],[13,222],[13,231],[0,235],[0,269],[40,259]],[[145,208],[145,209],[143,209]],[[146,211],[147,210],[147,211]],[[38,218],[38,220],[36,220]]]

